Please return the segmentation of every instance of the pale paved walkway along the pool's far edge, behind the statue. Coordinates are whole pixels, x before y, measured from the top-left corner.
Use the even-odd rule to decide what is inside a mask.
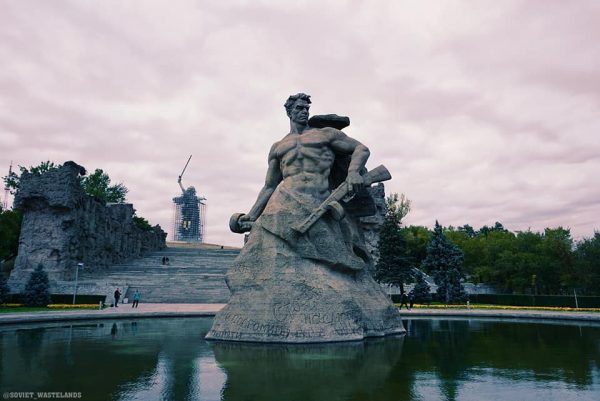
[[[145,304],[132,308],[130,304],[103,310],[55,312],[2,313],[0,324],[37,323],[90,319],[119,319],[131,317],[214,316],[224,304]],[[600,322],[600,313],[561,312],[503,309],[402,309],[402,317],[484,317],[505,319],[551,319]]]

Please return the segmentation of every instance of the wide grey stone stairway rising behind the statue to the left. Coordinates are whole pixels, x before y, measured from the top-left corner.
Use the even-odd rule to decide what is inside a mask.
[[[123,298],[129,300],[139,290],[141,302],[226,303],[229,289],[225,273],[239,252],[201,245],[170,245],[104,271],[80,271],[78,293],[106,294],[107,302],[112,302],[112,293],[118,287]],[[162,264],[163,257],[169,258],[169,265]]]

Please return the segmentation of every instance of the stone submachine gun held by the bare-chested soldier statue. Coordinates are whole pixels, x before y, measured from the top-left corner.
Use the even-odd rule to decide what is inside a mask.
[[[365,186],[370,186],[376,182],[382,182],[392,179],[392,175],[385,166],[380,165],[375,167],[373,170],[368,171],[362,176],[365,180]],[[292,229],[300,234],[304,234],[309,228],[313,226],[323,215],[330,212],[334,219],[341,220],[346,215],[344,207],[340,204],[340,201],[351,198],[352,189],[347,182],[343,182],[337,187],[331,195],[325,199],[321,205],[316,208],[310,216],[306,218],[301,224],[292,226]]]

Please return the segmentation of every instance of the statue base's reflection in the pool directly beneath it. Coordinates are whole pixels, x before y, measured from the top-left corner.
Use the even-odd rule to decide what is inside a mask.
[[[403,337],[358,343],[214,343],[227,374],[223,400],[374,399],[402,354]]]

